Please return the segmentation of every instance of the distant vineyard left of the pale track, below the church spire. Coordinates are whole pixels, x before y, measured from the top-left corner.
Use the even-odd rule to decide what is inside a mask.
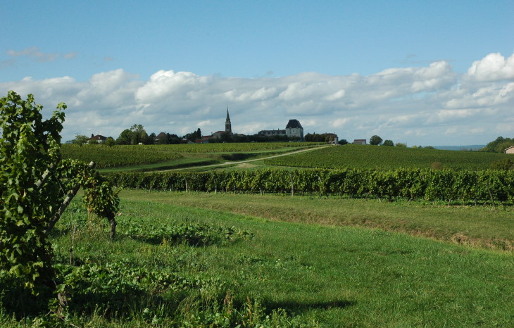
[[[315,146],[315,143],[275,142],[245,144],[177,144],[177,145],[133,145],[133,146],[77,146],[63,144],[63,158],[94,161],[96,168],[123,168],[134,165],[169,162],[179,160],[188,154],[218,153],[218,158],[238,159],[233,153],[286,151]],[[225,154],[225,155],[223,155]],[[216,156],[215,156],[216,157]]]

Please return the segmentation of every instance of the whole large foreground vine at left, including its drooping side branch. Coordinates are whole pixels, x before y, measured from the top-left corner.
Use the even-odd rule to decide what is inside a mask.
[[[112,238],[119,199],[93,165],[61,160],[64,103],[49,120],[32,94],[10,91],[0,106],[0,272],[37,295],[55,288],[49,233],[77,190],[90,213],[111,222]]]

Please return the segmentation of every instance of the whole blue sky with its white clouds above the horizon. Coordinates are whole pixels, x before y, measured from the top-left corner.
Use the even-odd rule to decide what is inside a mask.
[[[284,129],[408,146],[514,137],[514,1],[0,1],[0,96],[63,141]]]

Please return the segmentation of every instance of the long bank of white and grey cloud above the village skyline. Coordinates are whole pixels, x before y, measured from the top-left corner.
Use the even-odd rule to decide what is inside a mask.
[[[228,106],[232,130],[243,134],[284,129],[296,118],[305,133],[336,132],[348,140],[378,134],[395,142],[434,145],[445,144],[445,134],[451,133],[455,140],[462,136],[455,141],[459,144],[485,144],[491,135],[511,133],[514,82],[499,77],[509,76],[513,57],[489,64],[499,57],[493,53],[476,61],[462,76],[444,61],[368,76],[304,72],[253,79],[158,70],[141,80],[118,69],[87,81],[25,77],[0,83],[0,92],[35,94],[46,113],[67,103],[65,139],[77,132],[118,137],[135,123],[149,133],[183,135],[201,127],[209,134],[224,129]],[[486,64],[489,70],[484,70]],[[483,83],[493,77],[499,80]]]

